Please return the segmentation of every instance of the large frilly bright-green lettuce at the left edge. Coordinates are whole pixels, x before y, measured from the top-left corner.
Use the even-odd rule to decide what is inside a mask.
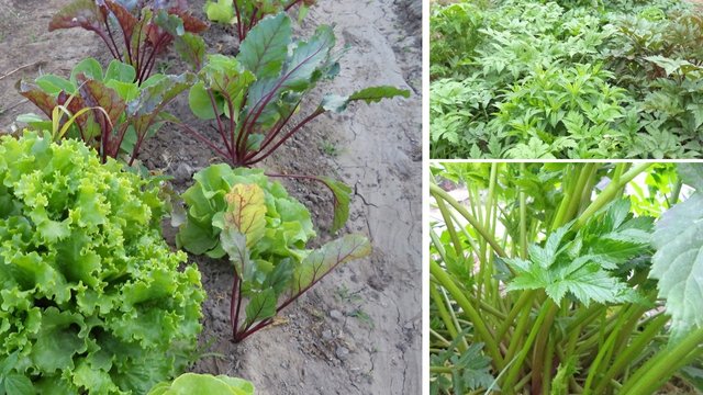
[[[0,390],[144,394],[197,346],[200,273],[159,188],[82,143],[0,139]]]

